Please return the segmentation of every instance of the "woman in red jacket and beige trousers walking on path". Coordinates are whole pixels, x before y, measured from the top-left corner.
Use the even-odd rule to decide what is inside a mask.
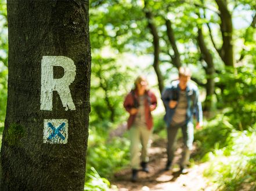
[[[131,167],[132,182],[137,180],[139,166],[142,170],[149,172],[147,162],[147,150],[149,138],[153,131],[153,119],[151,111],[156,109],[157,99],[154,93],[147,89],[147,80],[144,76],[138,76],[135,80],[135,89],[131,90],[125,97],[124,108],[129,112],[128,130],[131,139]],[[140,144],[142,152],[140,155]]]

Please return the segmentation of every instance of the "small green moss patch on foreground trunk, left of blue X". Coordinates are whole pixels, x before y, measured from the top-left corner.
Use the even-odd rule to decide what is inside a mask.
[[[12,123],[8,128],[5,139],[9,146],[16,146],[20,144],[20,139],[26,135],[25,127],[21,124]]]

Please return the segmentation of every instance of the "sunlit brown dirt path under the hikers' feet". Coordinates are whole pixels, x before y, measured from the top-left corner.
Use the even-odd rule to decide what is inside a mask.
[[[138,181],[133,183],[130,181],[131,169],[125,168],[119,172],[116,172],[116,174],[114,175],[114,179],[110,181],[111,185],[116,185],[117,190],[120,191],[212,190],[211,186],[207,183],[207,179],[203,177],[203,171],[208,166],[207,163],[194,164],[192,167],[189,168],[189,172],[187,174],[181,174],[181,172],[179,172],[178,162],[181,158],[181,145],[181,141],[178,141],[178,149],[176,149],[175,152],[175,158],[173,163],[174,165],[172,170],[165,171],[164,168],[167,161],[167,154],[165,149],[166,140],[156,139],[154,141],[153,138],[152,146],[149,149],[149,173],[139,171]]]

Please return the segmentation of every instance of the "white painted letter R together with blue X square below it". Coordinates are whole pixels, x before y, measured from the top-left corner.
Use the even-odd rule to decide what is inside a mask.
[[[62,78],[53,78],[53,67],[62,67]],[[75,64],[66,56],[43,56],[41,63],[41,99],[40,109],[52,111],[53,91],[57,91],[62,100],[62,105],[70,110],[75,110],[69,85],[75,80]],[[44,143],[66,144],[68,139],[67,119],[44,119]]]

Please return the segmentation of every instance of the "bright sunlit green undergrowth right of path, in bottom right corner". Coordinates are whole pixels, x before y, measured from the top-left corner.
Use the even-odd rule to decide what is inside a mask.
[[[255,132],[233,130],[228,146],[208,154],[210,167],[205,176],[215,183],[216,190],[256,189]]]

